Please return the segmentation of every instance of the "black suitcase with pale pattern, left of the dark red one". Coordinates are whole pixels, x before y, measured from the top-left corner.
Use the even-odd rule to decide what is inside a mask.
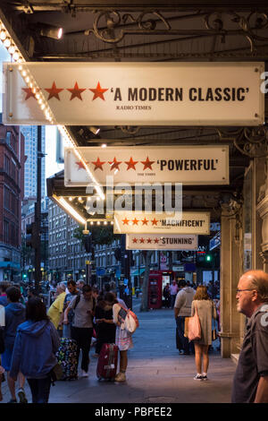
[[[78,361],[76,341],[70,338],[62,338],[56,357],[63,369],[61,380],[77,380]]]

